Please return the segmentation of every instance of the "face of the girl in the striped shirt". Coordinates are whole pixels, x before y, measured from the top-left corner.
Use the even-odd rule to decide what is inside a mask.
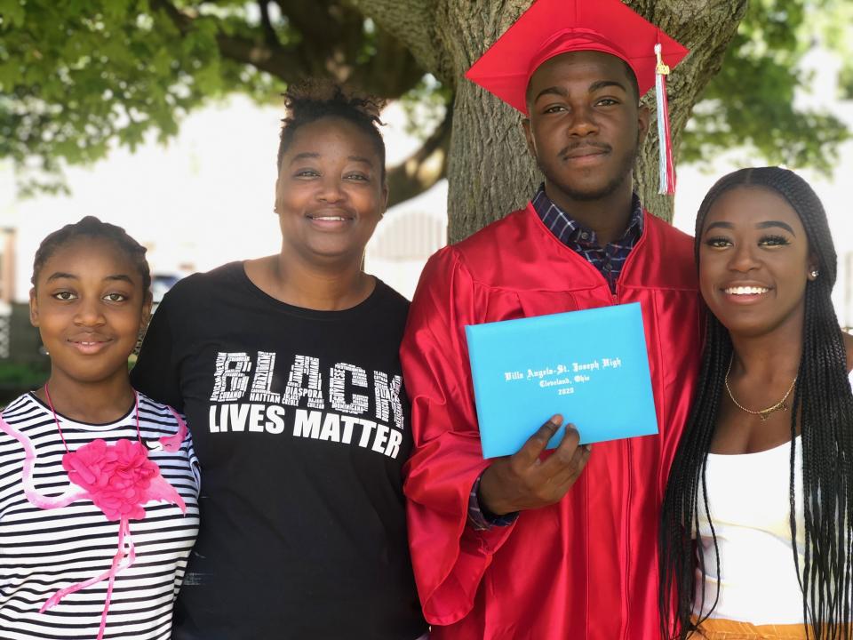
[[[60,246],[29,292],[30,322],[51,356],[52,381],[126,377],[127,358],[150,311],[139,270],[106,238]]]

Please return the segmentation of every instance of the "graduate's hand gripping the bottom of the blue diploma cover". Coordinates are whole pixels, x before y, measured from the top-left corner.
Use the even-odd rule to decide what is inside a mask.
[[[497,458],[480,481],[480,503],[496,516],[546,507],[562,500],[586,467],[592,448],[580,445],[580,434],[567,425],[565,436],[545,460],[539,456],[562,425],[562,415],[551,417],[514,455]]]

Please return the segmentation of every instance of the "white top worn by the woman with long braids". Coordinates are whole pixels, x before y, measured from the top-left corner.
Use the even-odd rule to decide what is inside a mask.
[[[853,373],[850,374],[853,386]],[[797,548],[805,558],[802,515],[802,448],[795,440]],[[802,591],[793,564],[790,524],[791,443],[741,455],[708,454],[708,509],[720,550],[717,574],[711,527],[699,494],[698,550],[705,561],[703,604],[697,571],[696,609],[705,614],[720,589],[711,617],[753,624],[801,624]],[[701,491],[701,490],[700,490]]]

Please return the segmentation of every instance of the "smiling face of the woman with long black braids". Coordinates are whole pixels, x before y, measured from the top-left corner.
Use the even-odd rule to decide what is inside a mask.
[[[734,188],[712,205],[699,240],[699,288],[729,332],[801,331],[817,258],[785,198],[766,188]]]

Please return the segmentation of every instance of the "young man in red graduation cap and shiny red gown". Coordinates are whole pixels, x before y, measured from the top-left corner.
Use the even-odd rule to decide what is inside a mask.
[[[700,312],[690,237],[632,189],[657,43],[670,64],[686,53],[618,0],[539,0],[468,73],[527,115],[545,181],[525,209],[436,253],[411,307],[405,492],[434,640],[660,636],[658,510]],[[483,460],[465,325],[627,302],[642,305],[659,435],[586,447],[568,430],[540,455],[571,420],[543,406],[546,424],[520,452]]]

